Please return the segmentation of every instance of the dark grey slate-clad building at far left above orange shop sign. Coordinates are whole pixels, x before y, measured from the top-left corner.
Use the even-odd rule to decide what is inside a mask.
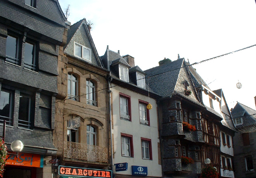
[[[7,147],[17,139],[25,145],[17,159],[7,159],[4,178],[52,177],[46,157],[57,153],[52,136],[65,30],[57,0],[0,2],[0,131],[5,121]]]

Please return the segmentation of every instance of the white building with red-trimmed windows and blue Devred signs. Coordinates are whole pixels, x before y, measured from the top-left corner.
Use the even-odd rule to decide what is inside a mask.
[[[145,73],[130,55],[107,50],[101,56],[111,71],[113,172],[116,178],[160,178],[161,155],[156,99]],[[150,103],[150,104],[149,104]]]

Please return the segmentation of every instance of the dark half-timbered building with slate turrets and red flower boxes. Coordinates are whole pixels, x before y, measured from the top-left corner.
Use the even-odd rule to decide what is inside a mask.
[[[178,56],[144,71],[148,86],[163,96],[159,131],[162,169],[168,178],[198,177],[206,158],[220,172],[220,98],[189,65]]]

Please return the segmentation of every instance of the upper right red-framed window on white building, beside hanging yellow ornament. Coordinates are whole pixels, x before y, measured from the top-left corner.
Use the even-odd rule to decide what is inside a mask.
[[[140,124],[150,126],[148,104],[146,101],[139,100]]]

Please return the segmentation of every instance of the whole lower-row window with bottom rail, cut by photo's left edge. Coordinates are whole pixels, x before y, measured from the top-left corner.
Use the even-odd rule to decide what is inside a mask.
[[[12,124],[12,91],[2,89],[0,94],[0,122],[6,121],[7,125]]]

